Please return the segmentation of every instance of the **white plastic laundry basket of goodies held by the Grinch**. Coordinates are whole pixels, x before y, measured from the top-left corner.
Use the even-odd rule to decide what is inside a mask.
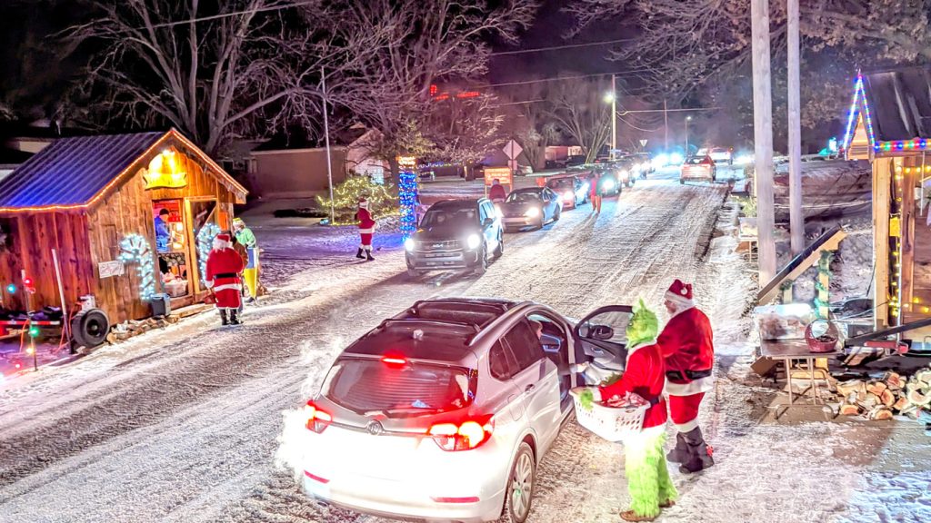
[[[580,425],[608,441],[621,441],[640,434],[650,402],[633,393],[587,402],[583,394],[572,392],[575,419]]]

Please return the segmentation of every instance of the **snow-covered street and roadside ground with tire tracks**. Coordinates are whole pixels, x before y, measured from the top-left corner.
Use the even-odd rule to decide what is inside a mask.
[[[656,305],[672,277],[695,281],[716,329],[718,385],[701,421],[718,464],[673,472],[681,502],[660,520],[931,520],[918,425],[764,421],[776,391],[749,376],[752,274],[713,233],[729,222],[724,196],[672,173],[639,182],[600,216],[580,208],[506,235],[480,278],[411,280],[396,237],[376,240],[377,262],[356,262],[351,230],[253,217],[276,291],[244,327],[202,315],[2,385],[0,520],[381,521],[307,501],[275,463],[284,417],[347,342],[432,296],[530,299],[578,317],[638,296]],[[570,423],[539,471],[530,521],[618,521],[622,471],[618,446]]]

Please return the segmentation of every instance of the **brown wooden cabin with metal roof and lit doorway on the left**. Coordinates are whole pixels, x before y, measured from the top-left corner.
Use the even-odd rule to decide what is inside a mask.
[[[33,310],[60,306],[63,294],[69,311],[92,300],[111,323],[152,315],[156,293],[172,308],[201,302],[203,253],[245,200],[174,129],[55,141],[0,181],[4,306],[26,309],[23,275],[34,280]]]

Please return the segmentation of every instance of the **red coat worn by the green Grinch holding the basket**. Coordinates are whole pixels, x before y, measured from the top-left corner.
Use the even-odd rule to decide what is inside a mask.
[[[643,428],[666,425],[666,398],[663,387],[666,384],[666,365],[659,345],[655,341],[641,343],[627,352],[627,367],[624,375],[617,382],[599,387],[602,399],[612,396],[624,396],[630,392],[654,404],[643,417]]]

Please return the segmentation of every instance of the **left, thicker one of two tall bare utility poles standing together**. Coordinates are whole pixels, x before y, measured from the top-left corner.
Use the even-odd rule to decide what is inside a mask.
[[[769,0],[750,0],[753,53],[753,149],[757,187],[760,287],[776,275],[773,203],[773,90],[769,63]]]

